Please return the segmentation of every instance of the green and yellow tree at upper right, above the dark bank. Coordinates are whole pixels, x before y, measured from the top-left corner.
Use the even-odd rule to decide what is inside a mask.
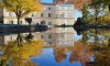
[[[110,23],[110,2],[109,0],[89,0],[82,6],[82,18],[95,24]]]

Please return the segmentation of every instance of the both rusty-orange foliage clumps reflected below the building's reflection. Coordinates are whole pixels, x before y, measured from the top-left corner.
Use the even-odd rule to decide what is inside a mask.
[[[90,56],[94,55],[92,52],[90,52],[90,50],[87,46],[84,46],[82,43],[79,41],[75,42],[74,46],[55,47],[53,52],[55,61],[57,63],[62,63],[63,59],[66,59],[66,52],[70,52],[68,58],[69,63],[80,62],[82,65],[86,65],[86,63],[90,62]]]

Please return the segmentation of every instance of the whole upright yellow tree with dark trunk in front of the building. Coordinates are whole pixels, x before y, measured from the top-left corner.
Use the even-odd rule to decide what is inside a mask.
[[[2,0],[2,3],[8,11],[15,13],[18,24],[20,24],[20,19],[24,15],[41,11],[40,0]]]

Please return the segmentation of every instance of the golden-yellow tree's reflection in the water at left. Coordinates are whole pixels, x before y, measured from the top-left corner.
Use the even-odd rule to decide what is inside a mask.
[[[19,37],[20,38],[20,37]],[[4,47],[0,57],[0,66],[36,66],[30,61],[32,56],[40,56],[43,47],[42,41],[25,41],[18,46],[16,41],[11,41]]]

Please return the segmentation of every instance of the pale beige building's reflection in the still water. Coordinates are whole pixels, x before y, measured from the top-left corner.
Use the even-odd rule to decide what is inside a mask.
[[[22,33],[22,37],[26,37],[30,33]],[[43,40],[45,46],[73,46],[74,30],[70,29],[51,29],[46,32],[32,33],[34,40]],[[18,34],[0,35],[0,45],[7,45],[9,41],[15,41]]]

